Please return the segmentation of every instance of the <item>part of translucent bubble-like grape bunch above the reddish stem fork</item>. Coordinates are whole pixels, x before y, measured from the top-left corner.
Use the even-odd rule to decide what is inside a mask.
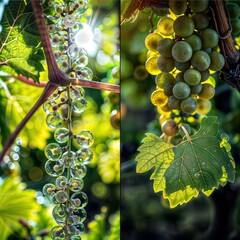
[[[78,39],[79,30],[88,26],[80,22],[82,15],[88,10],[88,0],[65,2],[49,2],[55,12],[54,16],[47,16],[54,56],[60,69],[71,77],[92,80],[93,72],[87,67],[88,54],[80,46]]]

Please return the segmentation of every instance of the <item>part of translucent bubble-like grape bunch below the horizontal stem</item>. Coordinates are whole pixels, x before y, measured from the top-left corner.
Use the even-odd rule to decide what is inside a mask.
[[[47,125],[55,129],[54,139],[45,147],[47,162],[45,170],[48,175],[55,177],[55,184],[47,183],[43,193],[55,204],[52,215],[58,226],[51,231],[53,239],[80,236],[84,231],[83,221],[86,219],[84,207],[88,202],[87,195],[82,192],[83,178],[86,175],[86,165],[93,158],[90,147],[94,142],[93,134],[82,130],[78,134],[72,132],[71,113],[81,113],[86,108],[84,90],[81,87],[58,88],[43,105],[48,114]],[[62,105],[68,106],[68,118],[62,117],[58,111]],[[64,127],[64,124],[67,127]],[[74,138],[79,150],[71,150]],[[64,146],[65,145],[65,146]],[[64,176],[65,175],[65,176]]]

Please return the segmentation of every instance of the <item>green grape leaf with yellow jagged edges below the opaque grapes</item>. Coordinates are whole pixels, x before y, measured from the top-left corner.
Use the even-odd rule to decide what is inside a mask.
[[[151,176],[154,191],[163,191],[170,207],[190,201],[199,192],[209,196],[219,185],[234,181],[234,161],[221,144],[216,117],[204,118],[191,139],[172,148],[159,137],[150,136],[138,149],[137,172],[155,167]]]

